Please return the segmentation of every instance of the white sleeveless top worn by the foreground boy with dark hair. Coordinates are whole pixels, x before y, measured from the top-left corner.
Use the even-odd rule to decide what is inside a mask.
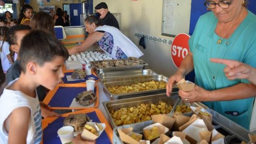
[[[8,143],[8,133],[4,128],[4,121],[12,113],[13,109],[20,107],[28,107],[31,112],[26,144],[39,144],[42,140],[42,116],[39,101],[37,97],[33,98],[21,91],[8,89],[18,79],[10,82],[0,96],[0,144]]]

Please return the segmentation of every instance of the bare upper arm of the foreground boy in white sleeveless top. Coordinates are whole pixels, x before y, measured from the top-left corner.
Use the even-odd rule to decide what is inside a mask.
[[[16,108],[7,120],[10,122],[8,144],[26,144],[30,109],[28,107]]]

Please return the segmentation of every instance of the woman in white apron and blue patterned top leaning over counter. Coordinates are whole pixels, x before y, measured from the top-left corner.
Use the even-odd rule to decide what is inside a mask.
[[[97,16],[88,16],[85,19],[85,29],[89,36],[81,45],[68,49],[70,55],[83,52],[96,42],[113,59],[143,56],[139,48],[119,29],[108,25],[102,26]]]

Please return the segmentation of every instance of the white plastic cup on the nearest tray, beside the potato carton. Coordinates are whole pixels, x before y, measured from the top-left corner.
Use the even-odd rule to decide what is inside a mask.
[[[61,144],[66,144],[69,143],[73,140],[74,138],[74,128],[72,126],[64,126],[61,127],[57,131],[60,139],[61,139]]]

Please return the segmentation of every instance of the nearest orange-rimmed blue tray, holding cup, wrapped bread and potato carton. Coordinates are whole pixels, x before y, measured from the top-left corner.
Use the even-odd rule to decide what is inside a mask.
[[[70,114],[85,113],[93,122],[105,123],[106,128],[96,139],[96,144],[112,143],[113,131],[104,115],[97,108],[83,109],[75,112],[62,114],[61,117],[50,117],[42,120],[43,140],[41,144],[61,144],[58,129],[63,126],[63,120]],[[45,141],[44,141],[45,140]]]

